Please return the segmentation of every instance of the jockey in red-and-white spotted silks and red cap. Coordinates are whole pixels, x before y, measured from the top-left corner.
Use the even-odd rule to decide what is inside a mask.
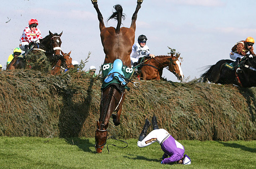
[[[28,21],[28,27],[26,27],[23,31],[23,34],[20,39],[20,48],[21,50],[25,51],[27,53],[28,51],[28,44],[30,42],[35,42],[37,44],[40,43],[41,31],[39,28],[36,28],[38,26],[38,21],[34,18]]]

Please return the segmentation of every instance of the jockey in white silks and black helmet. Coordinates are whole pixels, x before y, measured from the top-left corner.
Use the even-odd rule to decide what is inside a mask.
[[[132,46],[132,53],[130,54],[131,57],[131,64],[133,67],[137,66],[138,61],[141,57],[150,56],[154,58],[154,54],[150,54],[149,48],[146,45],[147,37],[145,35],[140,35],[138,37],[138,43]]]

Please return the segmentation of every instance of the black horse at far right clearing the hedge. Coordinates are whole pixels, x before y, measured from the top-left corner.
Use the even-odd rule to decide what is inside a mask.
[[[220,84],[234,84],[241,87],[255,87],[256,86],[256,57],[243,57],[239,66],[241,72],[236,72],[238,67],[233,69],[228,68],[227,64],[232,64],[234,61],[223,59],[218,61],[215,65],[201,75],[202,82],[213,82]],[[226,65],[226,66],[225,66]]]

